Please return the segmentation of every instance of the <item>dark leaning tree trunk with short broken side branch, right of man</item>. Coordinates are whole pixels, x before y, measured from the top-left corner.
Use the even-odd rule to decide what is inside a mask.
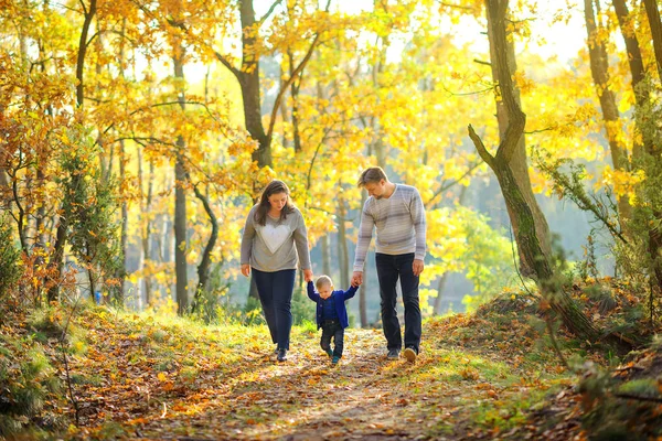
[[[526,201],[521,182],[513,172],[512,162],[522,160],[515,155],[520,139],[526,125],[526,115],[515,99],[511,72],[508,66],[508,46],[505,35],[505,12],[508,0],[485,0],[493,37],[492,64],[495,66],[498,83],[508,112],[508,127],[499,143],[496,154],[492,155],[485,149],[473,127],[469,126],[469,137],[485,163],[492,169],[499,181],[505,200],[508,213],[513,225],[520,258],[523,266],[531,270],[536,280],[544,301],[562,318],[563,323],[576,335],[595,342],[599,338],[598,331],[588,318],[578,309],[569,294],[556,286],[556,278],[549,263],[548,256],[543,250],[541,238],[535,225],[535,217],[528,201]]]

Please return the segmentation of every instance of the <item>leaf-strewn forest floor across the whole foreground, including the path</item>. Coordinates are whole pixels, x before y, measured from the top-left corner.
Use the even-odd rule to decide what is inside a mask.
[[[627,287],[599,288],[576,287],[575,299],[601,329],[645,337],[631,331],[648,319]],[[662,437],[662,338],[617,358],[562,327],[569,373],[538,303],[506,293],[473,314],[427,321],[415,364],[386,359],[380,330],[349,329],[339,366],[313,326],[293,329],[289,359],[278,364],[265,326],[94,306],[9,309],[0,322],[0,438]]]

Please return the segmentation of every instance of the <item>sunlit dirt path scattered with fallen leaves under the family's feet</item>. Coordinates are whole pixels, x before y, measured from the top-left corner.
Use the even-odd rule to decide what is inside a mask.
[[[352,330],[345,341],[346,355],[335,367],[317,347],[316,337],[301,342],[285,364],[275,363],[273,355],[247,355],[244,361],[252,367],[234,378],[217,378],[206,390],[210,400],[204,406],[191,412],[185,400],[172,402],[175,411],[166,406],[163,418],[143,424],[136,434],[399,440],[451,433],[455,397],[463,391],[444,387],[441,378],[420,385],[413,379],[435,358],[421,354],[415,365],[404,358],[387,361],[376,331]]]

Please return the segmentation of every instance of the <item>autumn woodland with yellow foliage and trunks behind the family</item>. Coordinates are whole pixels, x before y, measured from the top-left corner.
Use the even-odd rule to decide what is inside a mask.
[[[271,179],[306,217],[314,273],[349,286],[370,165],[420,191],[426,318],[528,291],[566,367],[556,332],[619,354],[653,341],[655,0],[0,7],[0,300],[64,308],[61,344],[93,302],[261,323],[238,255]],[[378,327],[373,260],[356,327]],[[312,306],[297,292],[297,323]]]

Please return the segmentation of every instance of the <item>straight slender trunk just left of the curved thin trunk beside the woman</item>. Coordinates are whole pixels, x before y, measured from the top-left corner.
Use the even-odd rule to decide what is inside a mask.
[[[184,47],[175,46],[173,56],[174,77],[184,78]],[[178,94],[180,107],[184,111],[184,90]],[[177,313],[183,315],[189,308],[189,281],[186,273],[186,169],[184,163],[184,150],[186,148],[183,136],[177,137],[177,159],[174,164],[174,272],[175,272],[175,297]]]

